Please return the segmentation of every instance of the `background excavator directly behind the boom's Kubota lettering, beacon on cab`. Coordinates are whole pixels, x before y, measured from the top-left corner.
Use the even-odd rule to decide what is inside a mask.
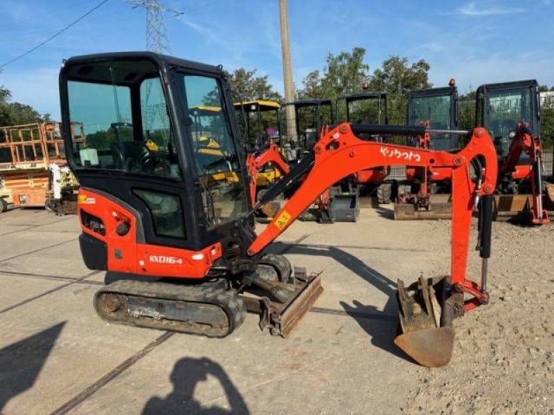
[[[458,151],[458,90],[454,79],[443,88],[409,91],[406,95],[406,123],[425,125],[436,133],[411,137],[416,148]],[[394,205],[395,220],[450,219],[452,201],[449,172],[431,167],[406,167],[406,181],[399,185]]]

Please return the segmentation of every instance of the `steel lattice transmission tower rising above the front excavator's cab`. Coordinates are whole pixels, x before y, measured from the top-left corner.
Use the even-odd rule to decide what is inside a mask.
[[[146,48],[157,53],[170,51],[164,15],[179,17],[183,12],[164,6],[160,0],[126,0],[133,8],[146,10]]]

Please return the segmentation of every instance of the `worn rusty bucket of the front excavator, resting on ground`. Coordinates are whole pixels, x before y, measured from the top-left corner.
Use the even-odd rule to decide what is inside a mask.
[[[433,284],[432,279],[420,277],[418,282],[406,288],[398,280],[400,323],[394,342],[423,366],[444,366],[452,357],[452,320],[456,310],[463,310],[459,306],[463,295],[456,293],[444,299],[446,283],[446,278]]]

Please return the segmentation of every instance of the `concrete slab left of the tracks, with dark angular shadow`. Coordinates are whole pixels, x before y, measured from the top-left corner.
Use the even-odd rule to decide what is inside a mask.
[[[102,322],[95,290],[73,284],[0,315],[3,413],[48,414],[160,335]]]

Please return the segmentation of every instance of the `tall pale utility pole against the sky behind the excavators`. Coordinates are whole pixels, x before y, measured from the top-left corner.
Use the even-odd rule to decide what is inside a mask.
[[[279,0],[279,17],[281,24],[281,51],[283,53],[283,80],[285,82],[285,101],[294,101],[294,84],[292,83],[292,64],[290,59],[289,19],[287,16],[287,0]],[[296,117],[294,107],[287,105],[287,135],[289,140],[296,137]]]

